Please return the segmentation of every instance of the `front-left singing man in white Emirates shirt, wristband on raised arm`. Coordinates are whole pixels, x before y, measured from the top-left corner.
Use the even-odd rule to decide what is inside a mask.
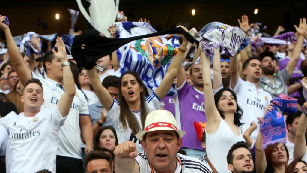
[[[58,38],[57,43],[58,52],[53,50],[53,53],[62,64],[66,91],[56,107],[41,109],[45,101],[42,83],[38,79],[31,79],[25,84],[20,98],[25,112],[17,115],[12,111],[0,119],[0,125],[9,133],[6,172],[56,171],[60,127],[64,125],[76,93],[64,42]]]

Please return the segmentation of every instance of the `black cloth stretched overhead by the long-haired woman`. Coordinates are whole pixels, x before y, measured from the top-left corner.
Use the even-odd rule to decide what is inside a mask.
[[[185,38],[187,38],[189,42],[195,42],[195,39],[192,37],[192,35],[186,32],[181,27],[130,38],[108,38],[100,36],[99,32],[95,29],[86,30],[81,35],[76,35],[74,37],[74,42],[72,44],[72,58],[77,62],[80,72],[82,70],[82,67],[87,70],[90,70],[95,66],[96,60],[112,53],[116,49],[129,42],[164,34],[180,33],[184,34]],[[81,48],[81,44],[86,45],[84,49]]]

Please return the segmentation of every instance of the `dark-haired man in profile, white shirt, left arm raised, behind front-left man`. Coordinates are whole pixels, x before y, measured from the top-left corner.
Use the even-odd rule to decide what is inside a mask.
[[[10,28],[6,24],[0,22],[0,29],[5,32],[12,65],[17,71],[21,83],[24,85],[31,78],[38,78],[43,83],[44,87],[45,102],[42,108],[55,107],[60,97],[64,94],[61,62],[55,58],[52,52],[48,52],[43,58],[43,66],[47,73],[47,78],[37,77],[25,64],[12,34],[10,33]],[[87,153],[93,150],[93,128],[86,99],[84,94],[77,88],[76,97],[74,97],[72,105],[69,107],[71,107],[69,116],[59,133],[56,172],[67,173],[71,171],[74,173],[83,173],[84,168],[81,157],[80,131],[86,143],[85,153]]]

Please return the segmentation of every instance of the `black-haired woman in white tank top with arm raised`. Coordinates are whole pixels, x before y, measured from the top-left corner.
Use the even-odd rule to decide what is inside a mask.
[[[206,57],[204,52],[201,56],[204,58],[206,152],[208,159],[219,173],[229,173],[226,159],[228,151],[233,144],[244,141],[242,130],[239,128],[242,125],[240,122],[242,110],[237,106],[235,92],[230,89],[223,88],[213,96],[210,58]],[[237,55],[233,58],[237,58]],[[213,78],[213,80],[219,79]]]

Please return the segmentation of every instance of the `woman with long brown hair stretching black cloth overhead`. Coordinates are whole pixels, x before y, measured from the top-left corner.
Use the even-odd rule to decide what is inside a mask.
[[[188,31],[186,28],[184,29]],[[119,143],[134,141],[138,152],[142,152],[143,149],[140,141],[134,135],[144,128],[147,114],[163,106],[161,100],[168,93],[183,62],[188,41],[183,34],[180,34],[180,36],[183,42],[177,55],[170,64],[160,86],[147,97],[145,97],[145,85],[134,71],[126,71],[121,75],[119,79],[119,101],[117,102],[112,99],[107,89],[101,85],[96,69],[87,70],[87,76],[94,91],[106,109],[105,115],[110,117],[115,125]]]

